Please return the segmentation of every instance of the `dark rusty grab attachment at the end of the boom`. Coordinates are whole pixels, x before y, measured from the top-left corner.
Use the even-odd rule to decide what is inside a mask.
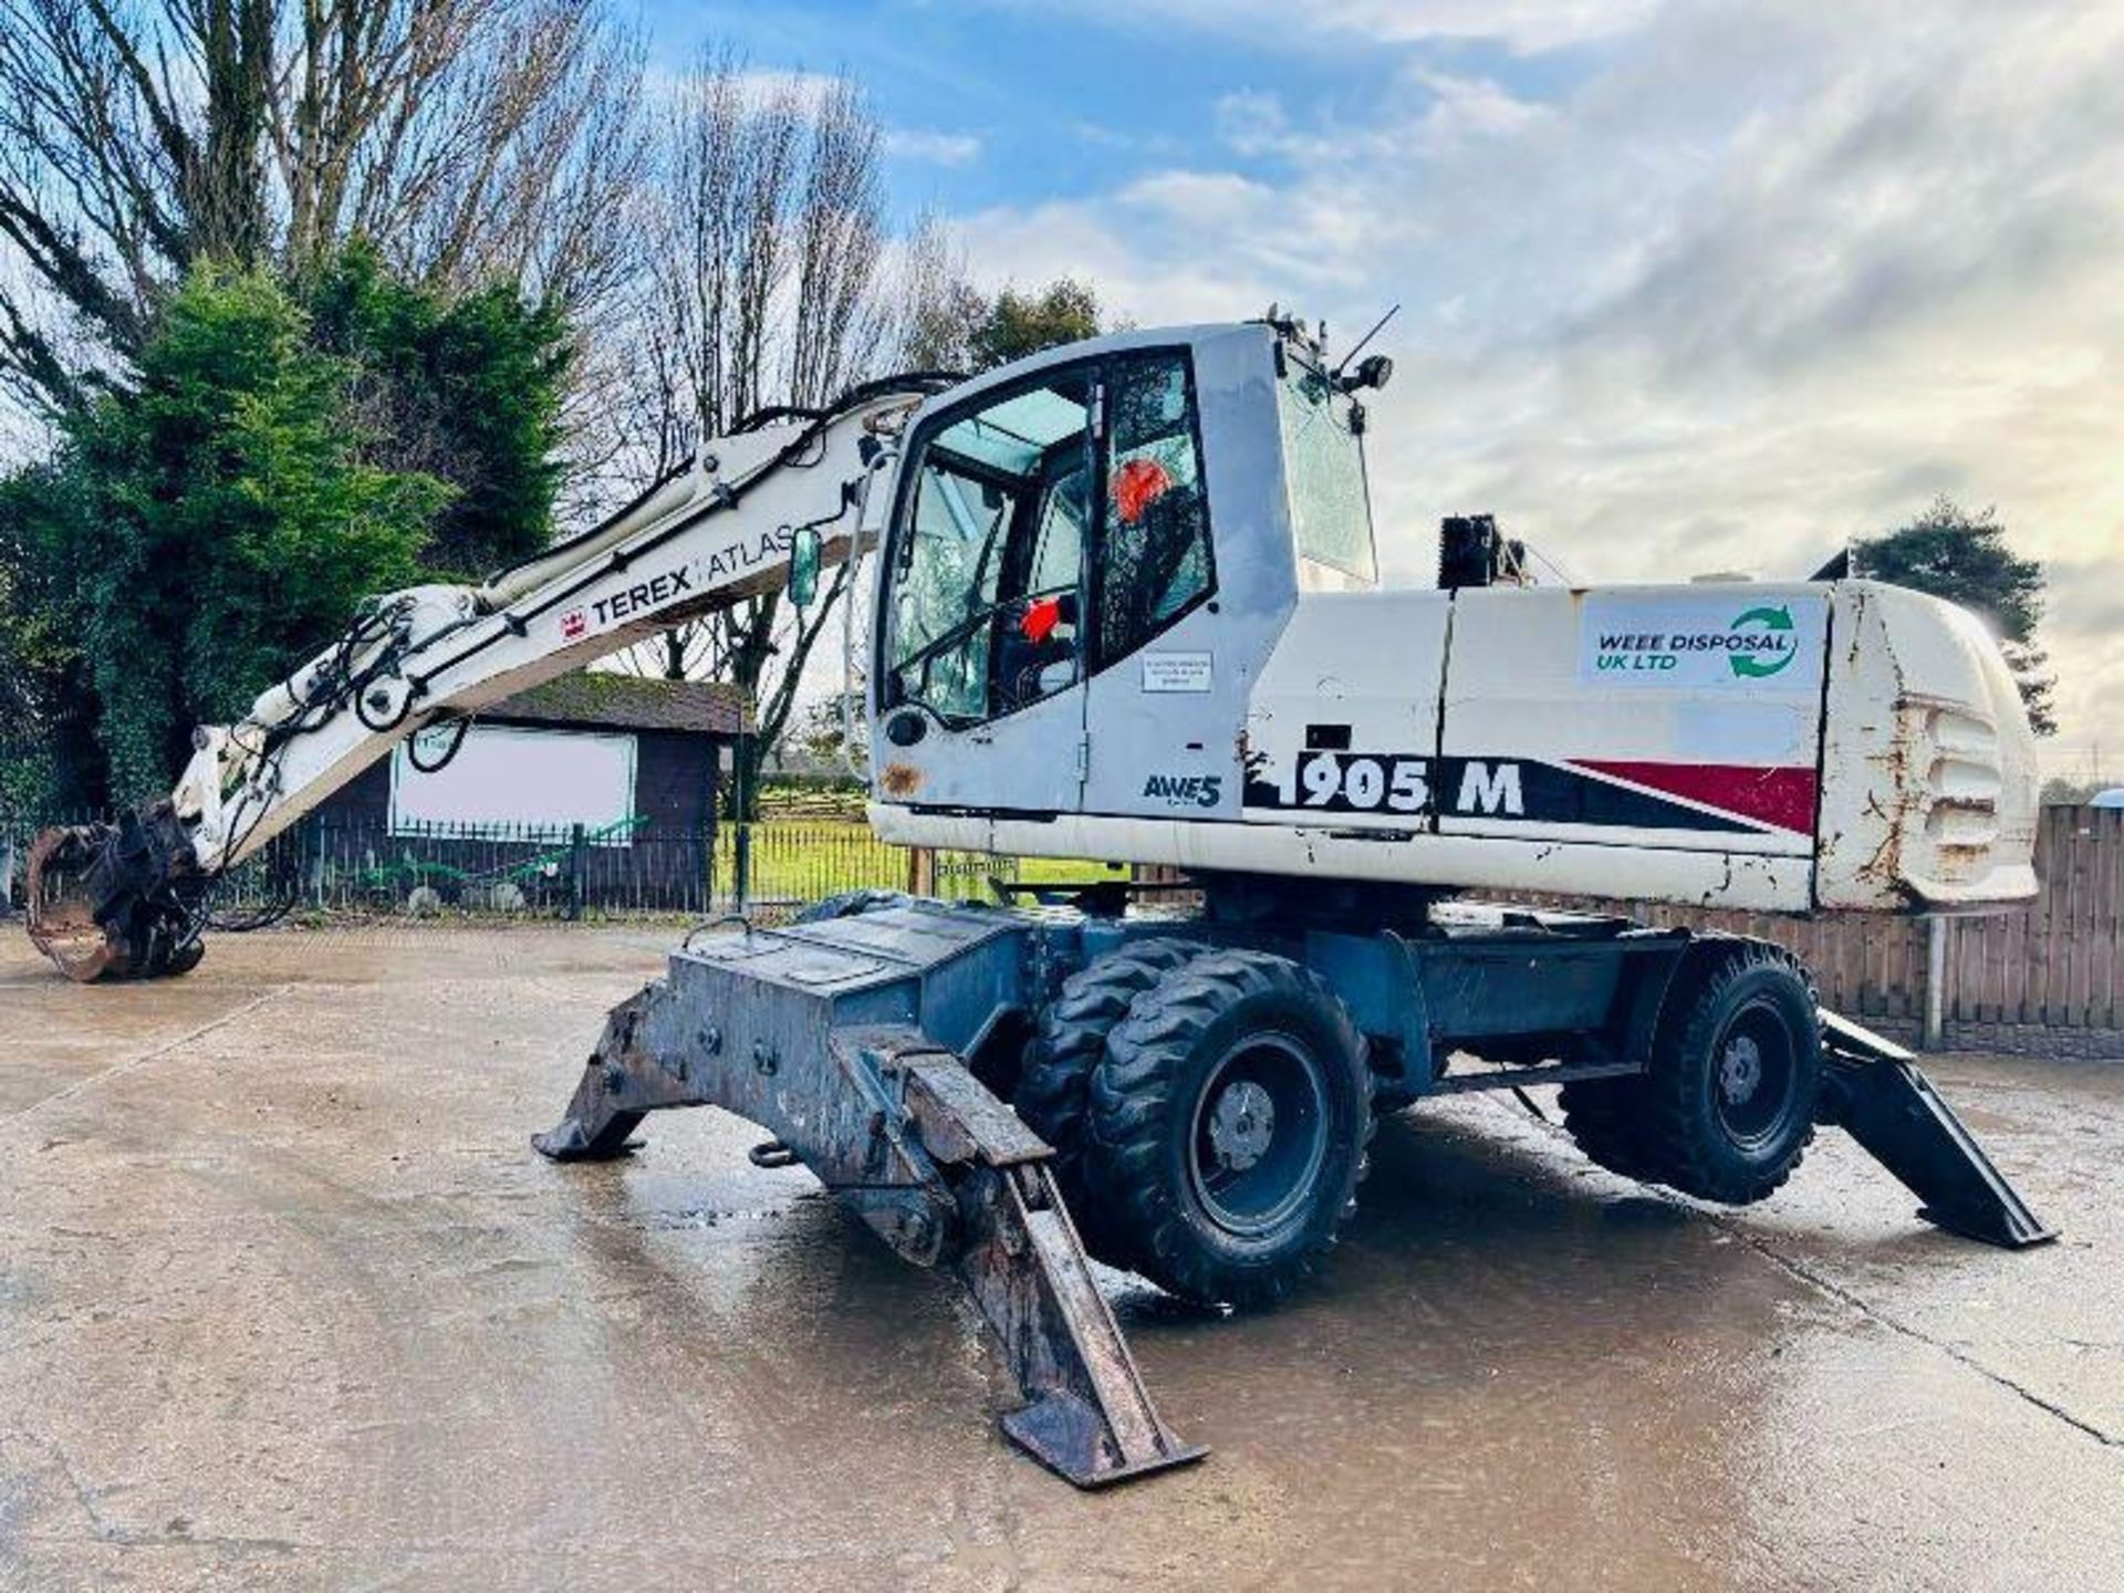
[[[76,983],[189,973],[204,954],[181,879],[189,862],[166,803],[45,830],[25,869],[32,945]]]

